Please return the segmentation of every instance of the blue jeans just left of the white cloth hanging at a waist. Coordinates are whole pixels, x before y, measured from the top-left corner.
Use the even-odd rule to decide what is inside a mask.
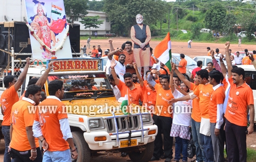
[[[199,133],[200,131],[200,122],[196,122],[191,119],[191,129],[192,129],[192,137],[195,145],[195,157],[197,162],[204,161],[204,152],[203,152],[203,143],[202,137]]]

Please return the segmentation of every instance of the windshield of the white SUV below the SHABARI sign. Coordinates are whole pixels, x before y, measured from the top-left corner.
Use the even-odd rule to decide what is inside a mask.
[[[48,83],[53,80],[64,82],[63,100],[90,99],[113,97],[114,92],[105,73],[76,73],[76,74],[58,74],[48,76]],[[78,97],[79,96],[79,97]]]

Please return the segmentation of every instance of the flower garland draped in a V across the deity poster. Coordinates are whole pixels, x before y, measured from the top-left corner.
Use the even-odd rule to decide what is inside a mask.
[[[69,32],[68,32],[69,24],[66,24],[67,25],[66,26],[66,34],[65,34],[65,36],[63,38],[63,41],[62,41],[61,45],[58,46],[57,48],[55,48],[54,50],[52,50],[48,46],[46,46],[43,41],[41,41],[41,39],[35,34],[34,30],[32,29],[32,27],[30,26],[30,24],[28,22],[26,23],[26,25],[29,27],[31,35],[33,35],[35,37],[35,39],[43,46],[43,48],[45,48],[46,50],[50,51],[53,55],[55,55],[55,53],[57,51],[59,51],[60,49],[61,50],[63,49],[63,45],[64,45],[64,42],[66,40],[66,37],[69,35]]]

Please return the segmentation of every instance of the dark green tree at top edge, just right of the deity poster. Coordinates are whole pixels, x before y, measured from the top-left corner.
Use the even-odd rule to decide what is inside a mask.
[[[88,0],[64,0],[64,7],[69,23],[74,23],[78,18],[88,14]]]

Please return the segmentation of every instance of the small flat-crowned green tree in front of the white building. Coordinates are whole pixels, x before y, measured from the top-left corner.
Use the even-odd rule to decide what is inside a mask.
[[[100,17],[97,16],[86,16],[82,18],[82,21],[80,21],[80,23],[82,23],[85,28],[89,27],[89,35],[91,36],[91,27],[93,28],[99,28],[98,25],[103,24],[103,20],[98,20]]]

